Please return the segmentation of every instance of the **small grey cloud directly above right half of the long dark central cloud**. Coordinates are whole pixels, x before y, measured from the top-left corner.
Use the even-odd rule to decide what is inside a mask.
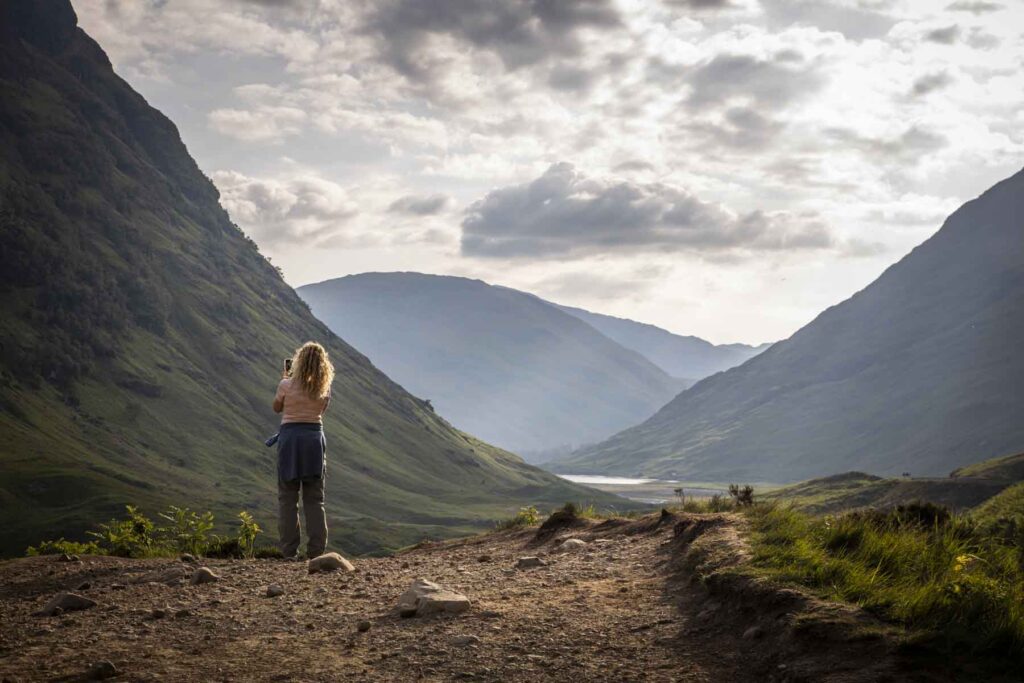
[[[687,101],[691,106],[720,104],[734,97],[761,108],[781,109],[821,88],[824,78],[793,51],[772,59],[718,54],[692,72]]]

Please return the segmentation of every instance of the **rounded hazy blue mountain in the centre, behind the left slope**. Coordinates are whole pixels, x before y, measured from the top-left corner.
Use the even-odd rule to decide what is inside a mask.
[[[575,317],[480,281],[375,272],[298,292],[335,333],[440,415],[520,454],[609,436],[681,388]]]

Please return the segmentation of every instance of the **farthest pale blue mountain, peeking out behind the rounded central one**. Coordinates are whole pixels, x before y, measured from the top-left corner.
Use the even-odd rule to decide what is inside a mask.
[[[758,346],[716,345],[699,337],[676,335],[646,323],[592,313],[572,306],[558,307],[575,315],[605,337],[645,356],[673,377],[686,379],[691,383],[745,362],[771,346],[770,343]]]

